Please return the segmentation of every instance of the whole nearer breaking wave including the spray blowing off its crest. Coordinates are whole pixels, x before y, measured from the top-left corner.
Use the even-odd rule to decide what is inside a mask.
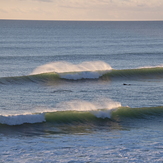
[[[45,111],[35,114],[0,115],[2,125],[23,125],[36,123],[60,124],[93,124],[102,122],[121,122],[126,118],[151,119],[154,116],[163,116],[163,106],[130,108],[123,107],[121,103],[112,100],[98,102],[70,101],[57,106],[57,110]],[[105,124],[104,124],[105,125]]]

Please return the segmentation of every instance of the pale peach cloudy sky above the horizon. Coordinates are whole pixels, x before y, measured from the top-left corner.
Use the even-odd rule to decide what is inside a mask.
[[[0,19],[163,20],[163,0],[0,0]]]

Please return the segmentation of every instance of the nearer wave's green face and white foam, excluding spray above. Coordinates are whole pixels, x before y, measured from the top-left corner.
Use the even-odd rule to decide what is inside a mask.
[[[103,122],[121,122],[126,119],[152,119],[163,116],[163,106],[156,107],[118,107],[114,109],[99,109],[91,111],[53,111],[26,115],[0,115],[0,124],[22,125],[35,123],[54,124],[94,124]]]

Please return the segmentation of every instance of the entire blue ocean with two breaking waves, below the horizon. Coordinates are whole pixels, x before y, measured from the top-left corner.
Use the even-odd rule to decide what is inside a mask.
[[[162,163],[163,22],[0,20],[1,163]]]

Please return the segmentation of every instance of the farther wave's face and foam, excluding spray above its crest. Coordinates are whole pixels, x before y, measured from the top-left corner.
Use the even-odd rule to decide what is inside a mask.
[[[23,83],[50,83],[58,80],[80,81],[80,80],[112,80],[112,79],[144,79],[163,78],[163,67],[122,69],[109,71],[81,71],[65,73],[41,73],[27,76],[14,76],[0,78],[0,84],[23,84]]]

